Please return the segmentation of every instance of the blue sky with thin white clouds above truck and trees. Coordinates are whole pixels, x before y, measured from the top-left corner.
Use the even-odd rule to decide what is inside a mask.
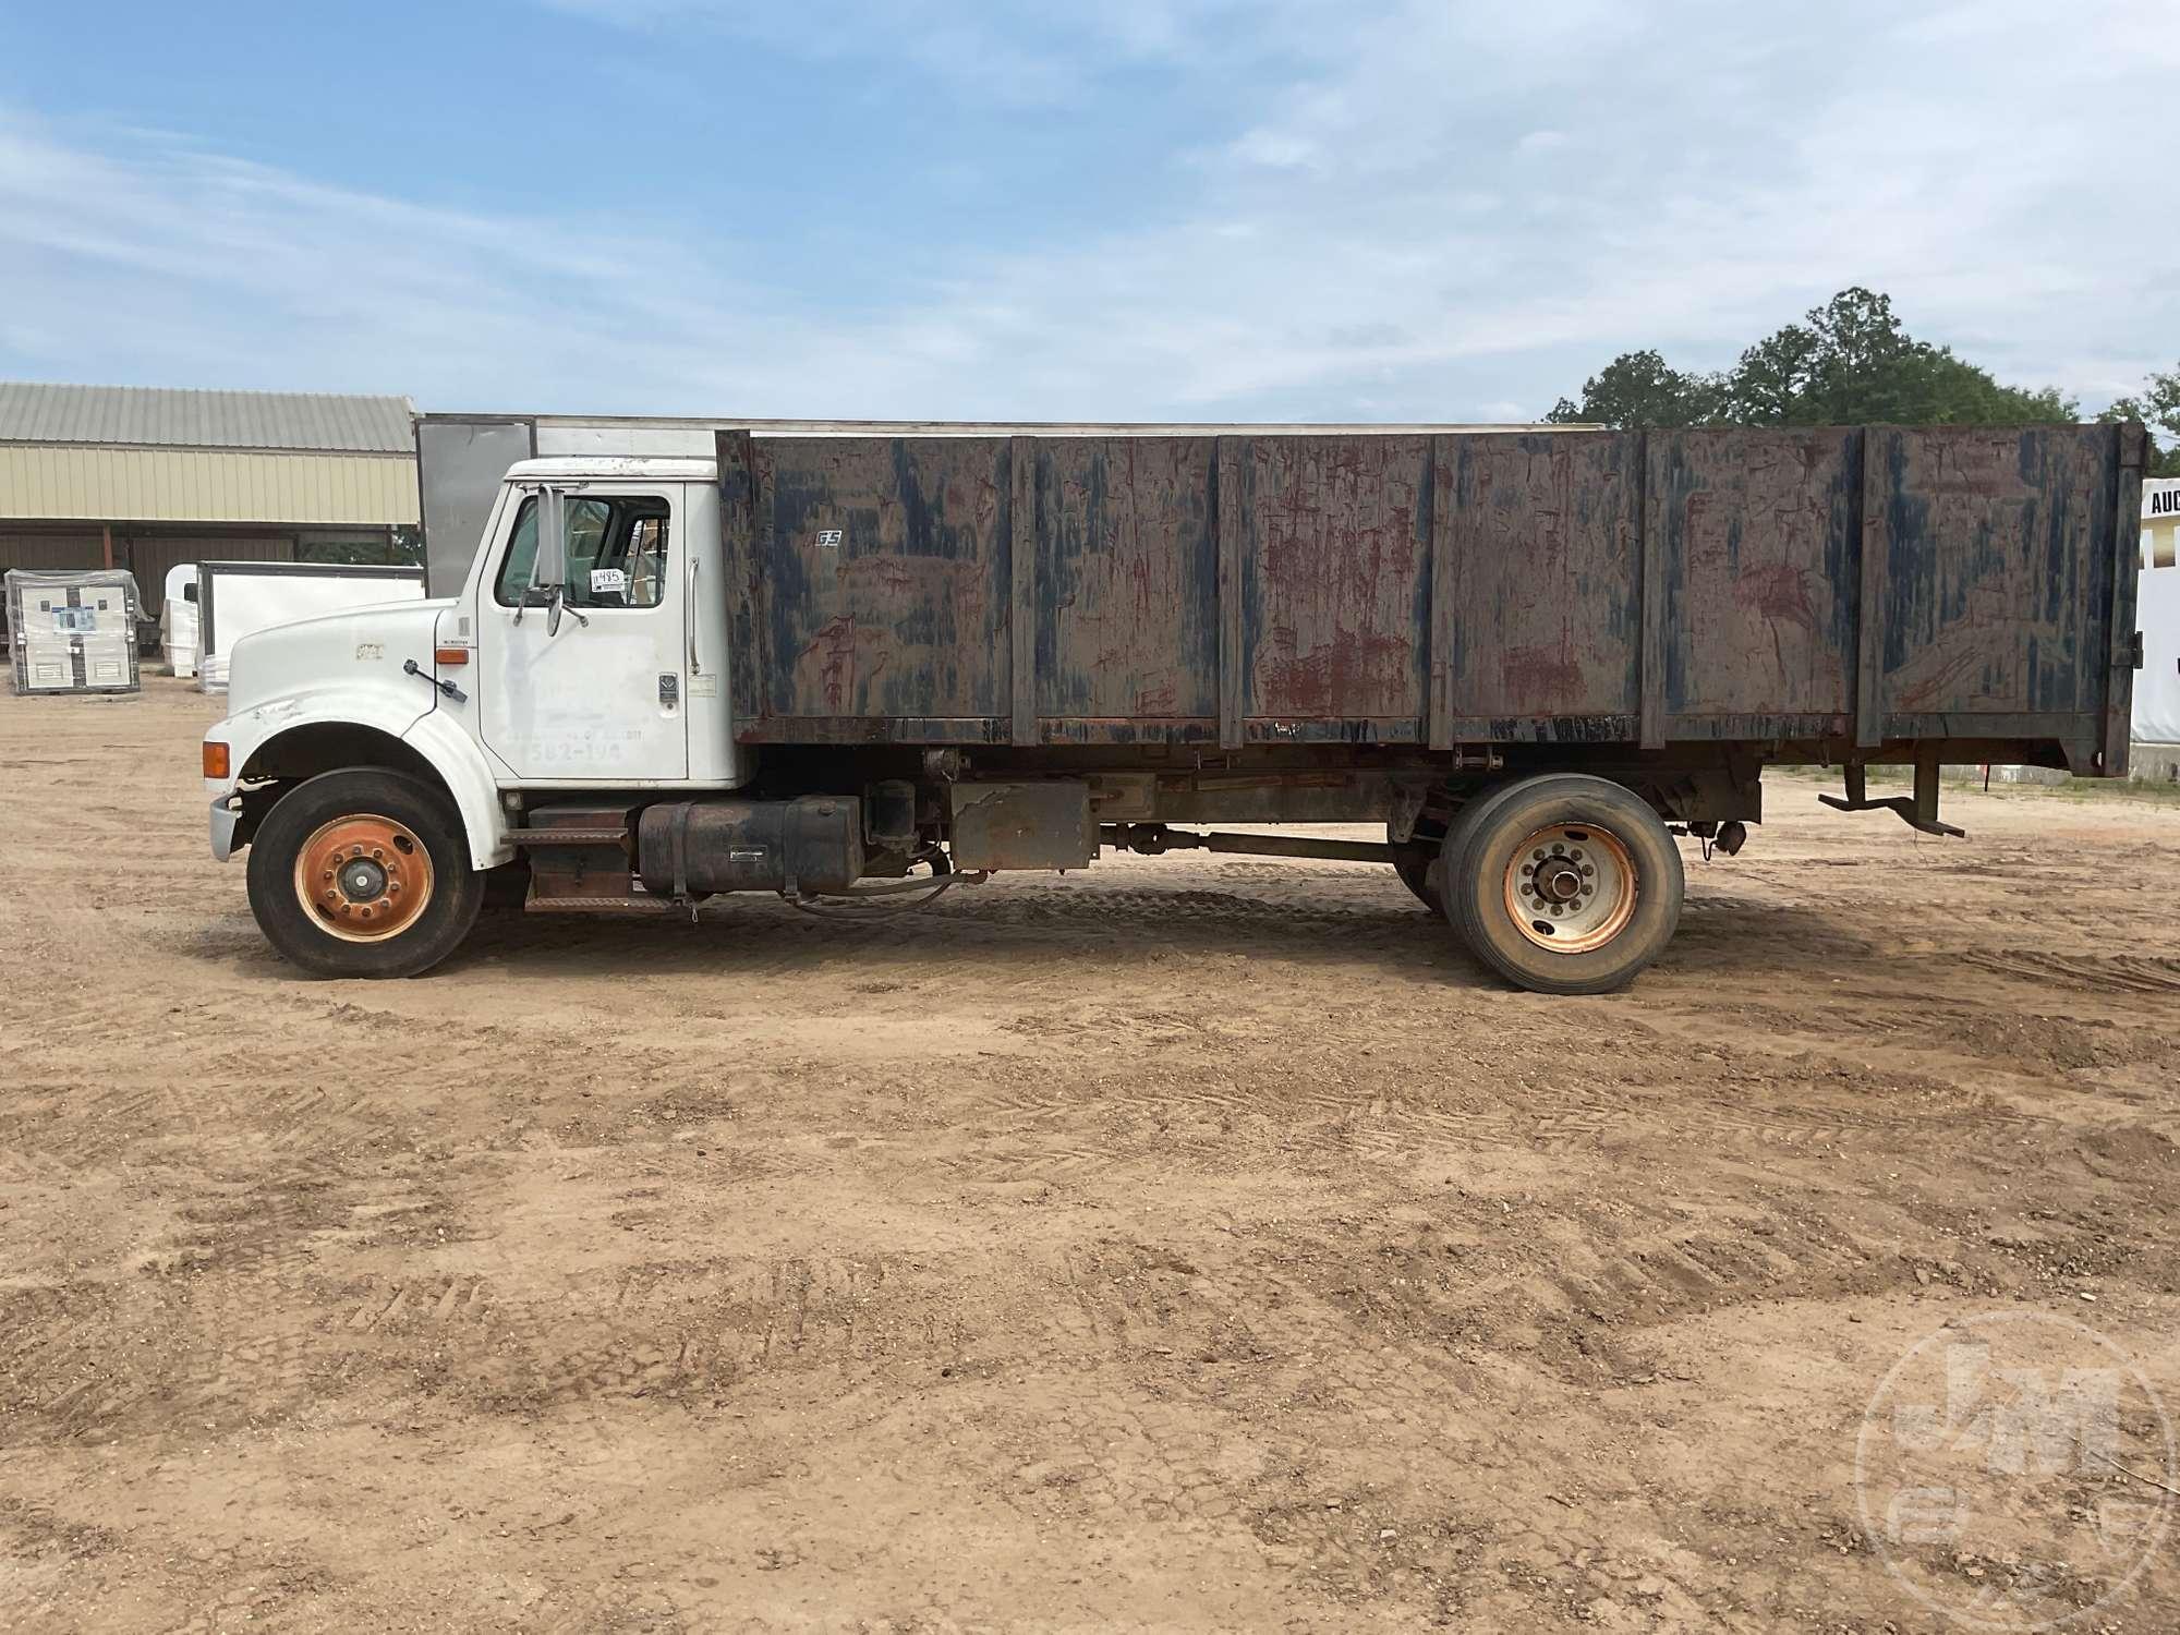
[[[0,377],[1528,419],[1844,283],[2180,362],[2180,0],[0,0]]]

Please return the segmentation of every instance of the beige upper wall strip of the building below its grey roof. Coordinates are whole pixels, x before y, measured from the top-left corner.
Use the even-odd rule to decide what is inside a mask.
[[[0,517],[412,528],[416,460],[9,443],[0,445]]]

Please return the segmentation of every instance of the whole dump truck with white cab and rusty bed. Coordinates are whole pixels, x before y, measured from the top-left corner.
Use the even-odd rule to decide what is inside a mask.
[[[279,953],[1208,848],[1384,863],[1594,994],[1766,767],[1934,835],[1942,763],[2126,774],[2139,425],[708,438],[514,460],[451,595],[235,645],[211,850]]]

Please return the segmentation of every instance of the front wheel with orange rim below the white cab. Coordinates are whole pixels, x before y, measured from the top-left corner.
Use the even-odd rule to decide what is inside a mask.
[[[249,861],[251,913],[314,977],[416,977],[477,922],[460,818],[401,772],[323,772],[275,802]]]

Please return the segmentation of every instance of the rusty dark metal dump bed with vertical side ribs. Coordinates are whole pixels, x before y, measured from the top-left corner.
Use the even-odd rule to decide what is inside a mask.
[[[746,743],[2128,746],[2143,434],[719,432]]]

